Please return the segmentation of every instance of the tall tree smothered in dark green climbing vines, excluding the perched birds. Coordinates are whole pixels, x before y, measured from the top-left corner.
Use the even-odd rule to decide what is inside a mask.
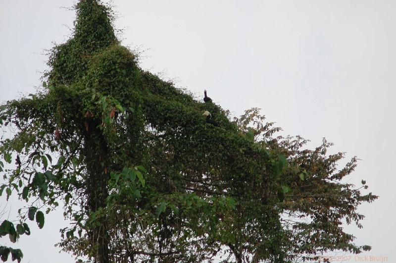
[[[0,156],[16,165],[0,162],[0,192],[26,201],[1,236],[29,235],[29,220],[42,228],[61,202],[72,224],[58,245],[81,261],[281,263],[370,249],[341,225],[361,227],[358,205],[377,198],[360,193],[365,182],[340,182],[356,158],[337,170],[343,154],[327,156],[326,141],[304,150],[300,137],[273,138],[279,129],[257,109],[230,119],[194,100],[139,68],[108,8],[81,0],[76,10],[43,89],[1,106],[1,126],[14,134]],[[0,255],[22,258],[8,247]]]

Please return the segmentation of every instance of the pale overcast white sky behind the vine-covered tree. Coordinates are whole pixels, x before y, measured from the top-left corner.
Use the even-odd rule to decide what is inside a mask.
[[[60,7],[73,2],[0,0],[0,102],[35,91],[46,69],[41,54],[70,34],[75,13]],[[363,229],[348,229],[357,244],[373,246],[361,255],[396,262],[396,1],[113,0],[113,5],[123,44],[145,51],[143,68],[197,94],[207,89],[237,115],[261,107],[284,134],[310,139],[311,147],[326,137],[335,152],[361,158],[350,182],[365,179],[380,199],[360,208],[366,215]],[[32,235],[20,239],[23,262],[74,262],[53,248],[64,225],[61,213],[50,214],[43,230],[32,227]],[[5,243],[8,238],[0,240]]]

